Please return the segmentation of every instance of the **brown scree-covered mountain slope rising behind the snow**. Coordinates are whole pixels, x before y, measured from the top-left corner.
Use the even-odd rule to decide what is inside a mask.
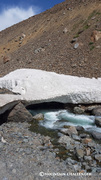
[[[101,0],[66,0],[0,32],[0,76],[35,68],[101,77]]]

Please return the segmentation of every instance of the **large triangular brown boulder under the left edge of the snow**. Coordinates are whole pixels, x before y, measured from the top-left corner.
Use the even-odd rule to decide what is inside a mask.
[[[7,121],[13,122],[24,122],[24,121],[32,121],[33,116],[29,113],[29,111],[25,108],[25,106],[20,102],[18,103],[9,113],[7,117]]]

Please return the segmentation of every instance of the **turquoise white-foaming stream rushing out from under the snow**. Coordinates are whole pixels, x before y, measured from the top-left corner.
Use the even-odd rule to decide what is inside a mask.
[[[31,110],[33,115],[42,113],[44,120],[39,122],[40,126],[48,129],[61,129],[64,126],[82,126],[86,131],[101,132],[101,128],[95,125],[95,116],[76,115],[68,110]]]

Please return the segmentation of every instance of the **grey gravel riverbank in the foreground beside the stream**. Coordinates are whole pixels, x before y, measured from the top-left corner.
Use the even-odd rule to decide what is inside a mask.
[[[0,126],[0,180],[100,179],[100,170],[91,176],[69,176],[86,171],[78,169],[80,163],[71,158],[64,161],[57,157],[51,138],[29,131],[29,126],[27,122]],[[86,160],[90,161],[89,156]]]

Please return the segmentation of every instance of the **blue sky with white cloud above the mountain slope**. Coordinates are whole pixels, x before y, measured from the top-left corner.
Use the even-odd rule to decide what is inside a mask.
[[[0,31],[64,0],[0,0]]]

